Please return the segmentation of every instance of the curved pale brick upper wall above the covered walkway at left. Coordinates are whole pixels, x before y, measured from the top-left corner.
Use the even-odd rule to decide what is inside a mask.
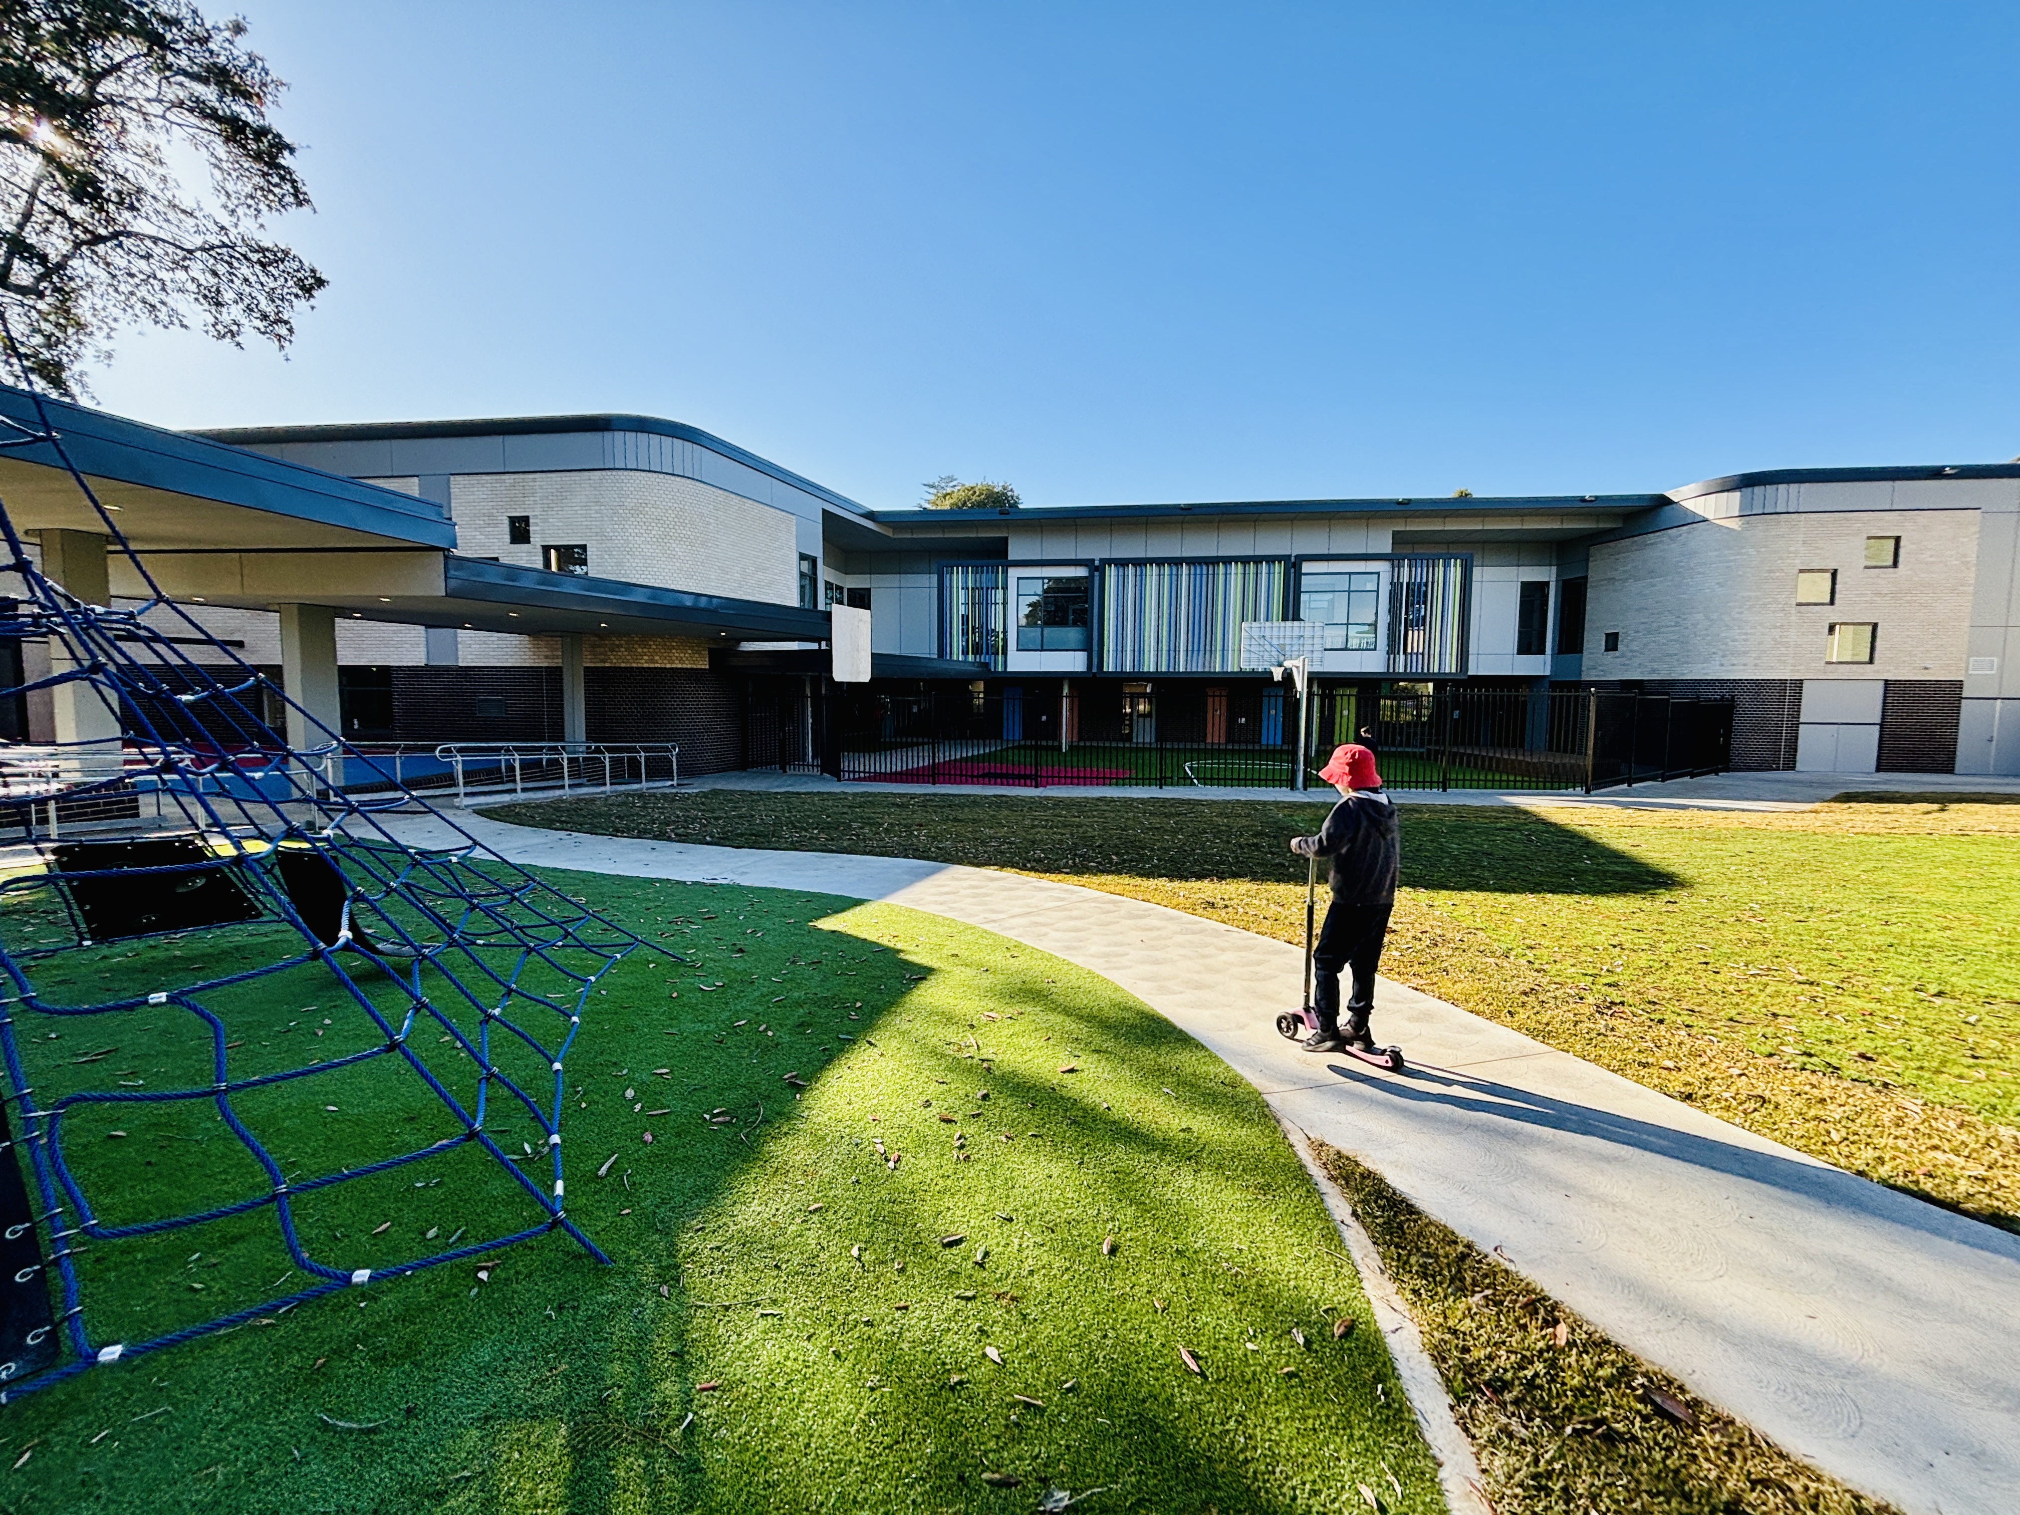
[[[457,551],[539,568],[545,543],[582,541],[590,574],[695,594],[798,604],[794,517],[667,473],[459,473],[448,485]],[[533,517],[533,543],[505,517]]]

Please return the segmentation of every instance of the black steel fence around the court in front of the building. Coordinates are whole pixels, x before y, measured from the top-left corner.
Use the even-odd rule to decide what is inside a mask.
[[[1279,687],[990,687],[883,695],[784,687],[753,695],[751,768],[883,784],[1291,790],[1297,697]],[[1729,699],[1590,691],[1315,689],[1307,782],[1366,741],[1402,790],[1604,790],[1725,770]]]

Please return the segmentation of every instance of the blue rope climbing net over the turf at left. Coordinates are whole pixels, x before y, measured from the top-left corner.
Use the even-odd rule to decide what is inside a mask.
[[[119,733],[0,743],[0,1157],[26,1157],[32,1208],[0,1283],[46,1301],[6,1343],[0,1404],[553,1230],[606,1262],[564,1208],[566,1058],[598,982],[650,943],[483,848],[186,614],[34,414],[0,416],[0,450],[69,473],[125,604],[46,578],[0,499],[0,648],[50,654],[0,703]],[[327,741],[291,745],[269,725],[289,709]],[[368,1224],[402,1200],[452,1214],[412,1242]],[[281,1277],[216,1313],[192,1244]]]

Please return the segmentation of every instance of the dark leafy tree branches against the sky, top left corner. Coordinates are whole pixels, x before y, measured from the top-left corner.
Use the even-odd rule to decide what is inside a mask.
[[[261,240],[311,206],[244,30],[188,0],[0,0],[0,309],[48,388],[135,321],[287,347],[327,283]]]

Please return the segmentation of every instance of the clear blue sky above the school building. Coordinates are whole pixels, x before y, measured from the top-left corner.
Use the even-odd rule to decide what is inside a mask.
[[[242,12],[331,287],[123,337],[160,424],[644,412],[879,507],[2020,452],[2012,4]]]

